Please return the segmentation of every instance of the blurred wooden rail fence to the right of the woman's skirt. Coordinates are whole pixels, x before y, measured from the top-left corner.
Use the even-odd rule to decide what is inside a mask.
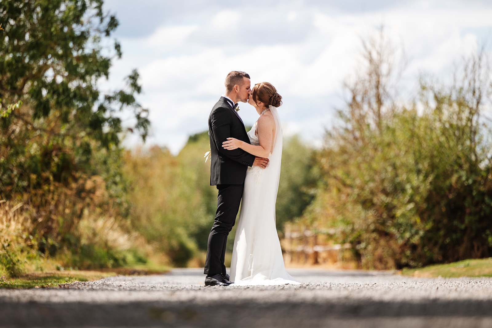
[[[309,230],[303,232],[287,231],[281,240],[285,264],[337,264],[343,262],[343,251],[352,245],[329,244],[327,235],[315,234]]]

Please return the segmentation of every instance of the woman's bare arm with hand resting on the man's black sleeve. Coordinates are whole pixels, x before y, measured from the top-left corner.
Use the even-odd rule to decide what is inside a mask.
[[[258,131],[259,146],[250,145],[236,138],[227,138],[227,141],[222,143],[222,147],[227,150],[241,148],[252,155],[267,158],[272,149],[272,137],[275,127],[275,120],[269,115],[262,115],[258,118],[256,130]]]

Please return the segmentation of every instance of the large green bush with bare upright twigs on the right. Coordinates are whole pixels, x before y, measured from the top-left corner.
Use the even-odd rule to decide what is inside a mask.
[[[324,184],[305,223],[334,229],[332,238],[352,243],[366,268],[490,256],[484,58],[465,62],[451,86],[422,80],[407,108],[392,100],[386,50],[376,43],[366,48],[367,74],[349,86],[344,124],[326,135],[319,155]]]

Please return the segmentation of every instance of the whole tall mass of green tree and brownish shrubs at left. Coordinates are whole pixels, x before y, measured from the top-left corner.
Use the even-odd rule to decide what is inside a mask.
[[[23,206],[15,234],[8,225],[0,230],[24,239],[29,249],[21,253],[39,251],[79,268],[141,262],[117,250],[128,235],[118,113],[132,113],[135,124],[127,129],[143,140],[150,121],[135,98],[142,92],[137,71],[124,89],[97,87],[121,57],[118,42],[107,46],[118,21],[102,6],[102,0],[0,2],[0,199]],[[109,240],[105,229],[120,236]]]

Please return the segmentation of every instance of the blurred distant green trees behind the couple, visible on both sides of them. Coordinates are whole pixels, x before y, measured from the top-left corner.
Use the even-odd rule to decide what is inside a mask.
[[[210,185],[208,132],[188,138],[177,156],[168,149],[128,152],[125,172],[133,189],[130,199],[132,226],[159,245],[176,266],[185,266],[207,250],[217,208],[217,189]],[[300,216],[313,197],[313,150],[298,137],[285,141],[277,197],[277,227]],[[235,229],[229,234],[232,250]]]

